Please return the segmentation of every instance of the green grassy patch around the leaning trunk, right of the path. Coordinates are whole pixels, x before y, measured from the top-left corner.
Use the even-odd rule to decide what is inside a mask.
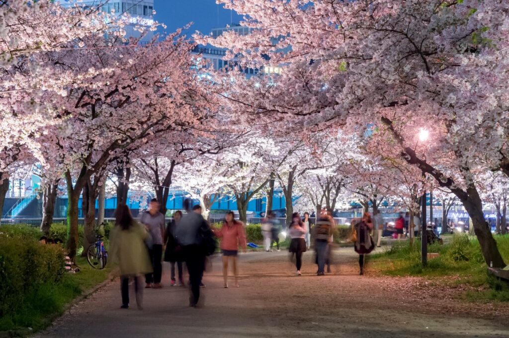
[[[495,236],[499,251],[509,263],[509,235]],[[420,263],[420,241],[413,248],[408,241],[397,242],[384,253],[371,255],[370,268],[391,276],[422,276],[449,287],[471,286],[462,297],[474,301],[509,301],[509,284],[487,273],[487,265],[475,237],[454,235],[444,245],[433,244],[429,253],[440,256]]]

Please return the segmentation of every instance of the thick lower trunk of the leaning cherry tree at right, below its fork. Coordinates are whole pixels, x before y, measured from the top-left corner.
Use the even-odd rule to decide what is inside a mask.
[[[484,218],[482,201],[478,198],[478,194],[475,193],[476,191],[470,192],[470,198],[462,201],[463,206],[472,219],[474,233],[479,240],[486,264],[488,266],[493,265],[495,268],[504,268],[505,263],[498,251],[497,242],[493,238],[490,226]]]

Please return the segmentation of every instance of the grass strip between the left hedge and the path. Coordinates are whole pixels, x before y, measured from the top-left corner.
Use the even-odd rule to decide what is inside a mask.
[[[40,330],[49,324],[54,316],[63,313],[65,305],[84,291],[105,281],[111,267],[103,270],[92,268],[86,258],[79,257],[76,264],[80,271],[67,273],[61,283],[42,284],[27,290],[27,296],[20,310],[0,318],[0,331],[30,327]]]

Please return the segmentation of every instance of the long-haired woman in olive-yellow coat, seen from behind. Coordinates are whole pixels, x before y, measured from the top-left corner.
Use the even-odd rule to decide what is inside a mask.
[[[115,227],[111,230],[110,257],[120,270],[122,309],[129,308],[129,280],[134,280],[136,304],[143,309],[143,275],[152,272],[145,239],[144,226],[134,221],[127,205],[119,205],[115,211]]]

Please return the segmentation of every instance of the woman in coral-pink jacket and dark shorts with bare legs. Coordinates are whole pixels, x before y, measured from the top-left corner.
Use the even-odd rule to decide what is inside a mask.
[[[230,211],[224,217],[224,223],[221,229],[215,229],[214,234],[221,238],[221,252],[223,254],[223,280],[224,287],[228,288],[228,264],[233,264],[233,274],[235,276],[235,287],[239,287],[237,255],[239,246],[246,250],[246,234],[242,222],[235,220],[235,214]]]

